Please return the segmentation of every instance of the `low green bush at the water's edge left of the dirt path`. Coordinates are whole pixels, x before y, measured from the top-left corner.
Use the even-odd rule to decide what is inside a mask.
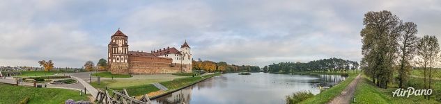
[[[312,96],[314,96],[314,94],[311,92],[301,91],[293,93],[291,96],[286,96],[285,100],[287,104],[300,103],[301,101],[311,98]]]

